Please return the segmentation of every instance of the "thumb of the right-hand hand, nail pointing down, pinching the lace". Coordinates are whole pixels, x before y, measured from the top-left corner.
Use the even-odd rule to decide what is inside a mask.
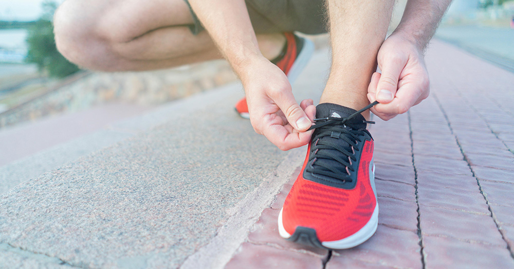
[[[405,67],[405,62],[401,60],[384,61],[382,64],[382,74],[378,80],[375,98],[382,104],[391,102],[398,89],[398,79]]]

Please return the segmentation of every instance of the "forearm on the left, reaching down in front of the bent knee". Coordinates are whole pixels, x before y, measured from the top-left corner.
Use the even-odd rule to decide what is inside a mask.
[[[251,59],[263,57],[244,0],[189,2],[236,73],[248,65]]]

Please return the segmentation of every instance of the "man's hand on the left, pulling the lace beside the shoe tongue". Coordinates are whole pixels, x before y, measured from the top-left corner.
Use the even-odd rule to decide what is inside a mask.
[[[238,74],[255,132],[284,151],[307,144],[313,131],[305,131],[316,114],[313,100],[303,100],[299,106],[282,70],[264,57],[250,62]]]

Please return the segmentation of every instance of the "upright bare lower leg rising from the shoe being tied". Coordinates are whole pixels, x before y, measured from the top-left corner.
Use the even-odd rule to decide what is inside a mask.
[[[369,104],[368,85],[386,37],[394,0],[328,1],[332,69],[320,102],[359,110]],[[369,118],[369,112],[363,113]]]

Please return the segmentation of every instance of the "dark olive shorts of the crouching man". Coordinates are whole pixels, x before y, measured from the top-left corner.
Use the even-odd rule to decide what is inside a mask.
[[[198,17],[184,0],[193,15],[193,34],[204,30]],[[325,0],[246,0],[248,14],[255,33],[280,33],[299,31],[305,34],[327,32]]]

